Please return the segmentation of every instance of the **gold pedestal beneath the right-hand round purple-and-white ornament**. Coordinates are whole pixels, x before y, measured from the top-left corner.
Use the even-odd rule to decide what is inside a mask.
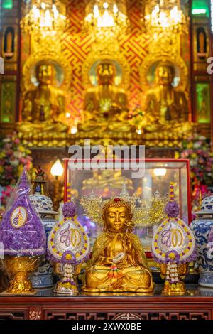
[[[163,286],[163,295],[177,295],[177,296],[182,296],[186,293],[185,289],[185,283],[181,281],[181,279],[185,278],[185,275],[187,274],[189,269],[189,264],[188,263],[182,263],[178,265],[178,279],[180,281],[176,283],[170,283],[169,281],[165,281],[164,286]],[[160,276],[165,279],[166,276],[166,271],[167,271],[167,264],[163,263],[160,264]]]

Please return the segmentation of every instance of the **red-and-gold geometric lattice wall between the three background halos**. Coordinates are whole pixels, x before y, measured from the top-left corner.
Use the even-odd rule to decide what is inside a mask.
[[[131,109],[141,103],[141,87],[139,67],[148,53],[148,36],[141,31],[142,6],[140,0],[129,0],[128,14],[130,27],[127,33],[120,37],[119,44],[129,67],[129,106]],[[67,7],[70,27],[62,38],[62,50],[72,66],[72,117],[82,109],[84,87],[82,82],[82,65],[92,50],[92,38],[84,30],[85,1],[72,0]]]

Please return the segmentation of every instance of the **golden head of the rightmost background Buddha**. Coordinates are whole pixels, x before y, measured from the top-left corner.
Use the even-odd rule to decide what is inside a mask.
[[[175,77],[175,68],[170,63],[162,62],[156,68],[155,75],[158,85],[170,86]]]

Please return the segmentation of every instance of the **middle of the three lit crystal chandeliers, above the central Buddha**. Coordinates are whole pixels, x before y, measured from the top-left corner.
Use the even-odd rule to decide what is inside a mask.
[[[86,6],[84,24],[96,36],[117,36],[128,25],[126,1],[89,1]]]

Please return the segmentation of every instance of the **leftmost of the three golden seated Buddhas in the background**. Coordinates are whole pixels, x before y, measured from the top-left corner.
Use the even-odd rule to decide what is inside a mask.
[[[35,69],[38,87],[23,97],[23,121],[18,124],[21,132],[66,131],[65,94],[54,87],[54,67],[40,63]]]

